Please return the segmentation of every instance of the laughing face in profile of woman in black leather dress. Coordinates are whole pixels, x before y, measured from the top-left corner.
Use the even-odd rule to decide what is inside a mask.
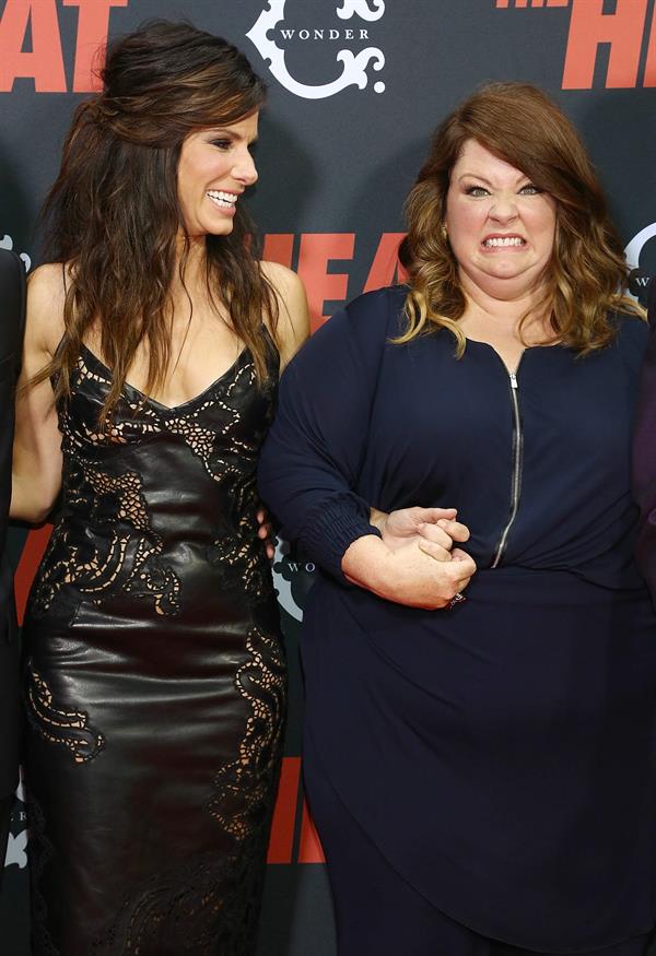
[[[257,181],[249,147],[257,139],[258,114],[238,122],[190,133],[177,172],[178,202],[189,238],[232,232],[237,202]]]

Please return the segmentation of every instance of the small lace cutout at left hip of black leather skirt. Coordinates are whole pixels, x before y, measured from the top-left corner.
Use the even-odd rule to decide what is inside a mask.
[[[63,744],[77,764],[87,764],[105,746],[105,737],[89,725],[84,710],[59,710],[52,692],[34,670],[27,666],[27,715],[42,737],[51,744]]]

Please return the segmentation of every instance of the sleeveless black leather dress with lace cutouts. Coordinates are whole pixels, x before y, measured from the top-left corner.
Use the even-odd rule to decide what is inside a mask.
[[[33,952],[255,949],[285,666],[257,538],[271,380],[236,363],[175,408],[83,350],[63,501],[24,626]]]

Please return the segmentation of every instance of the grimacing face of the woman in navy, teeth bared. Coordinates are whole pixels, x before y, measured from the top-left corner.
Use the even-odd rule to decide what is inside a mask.
[[[465,288],[499,298],[539,288],[555,239],[557,202],[520,170],[467,140],[446,196],[445,225]]]

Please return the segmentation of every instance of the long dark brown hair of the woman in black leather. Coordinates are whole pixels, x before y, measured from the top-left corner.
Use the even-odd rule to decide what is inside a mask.
[[[44,205],[47,258],[67,263],[70,282],[61,345],[35,381],[56,374],[56,394],[68,398],[84,335],[99,320],[102,352],[113,373],[104,422],[139,345],[148,347],[147,392],[163,383],[169,367],[171,284],[177,268],[184,285],[190,251],[186,237],[179,253],[183,142],[200,129],[253,115],[266,87],[226,40],[187,23],[157,20],[109,47],[101,78],[102,93],[75,110]],[[230,235],[206,237],[207,286],[210,300],[230,309],[261,382],[267,377],[261,321],[268,318],[274,333],[277,298],[242,203],[233,223]]]

